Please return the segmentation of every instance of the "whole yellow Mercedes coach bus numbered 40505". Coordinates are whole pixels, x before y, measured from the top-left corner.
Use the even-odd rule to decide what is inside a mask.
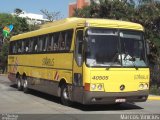
[[[8,77],[18,90],[64,105],[143,102],[149,90],[144,28],[137,23],[66,18],[13,36]]]

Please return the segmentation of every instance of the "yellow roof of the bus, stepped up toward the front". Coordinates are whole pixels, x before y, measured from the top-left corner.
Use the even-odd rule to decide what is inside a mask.
[[[126,22],[121,20],[110,19],[97,19],[97,18],[66,18],[58,21],[54,21],[43,25],[41,29],[26,32],[23,34],[15,35],[11,38],[11,41],[30,38],[43,34],[49,34],[55,31],[61,31],[66,29],[74,29],[75,27],[106,27],[106,28],[121,28],[143,31],[143,27],[140,24],[133,22]]]

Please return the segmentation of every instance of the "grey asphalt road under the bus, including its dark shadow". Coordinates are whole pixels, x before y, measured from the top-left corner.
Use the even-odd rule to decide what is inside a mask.
[[[59,98],[51,95],[47,95],[37,91],[31,91],[29,94],[18,91],[16,87],[12,85],[12,83],[7,79],[6,76],[1,75],[0,119],[2,118],[2,120],[4,120],[3,118],[6,117],[6,113],[18,115],[23,114],[23,116],[24,114],[27,114],[25,117],[29,117],[29,114],[32,114],[32,116],[36,114],[35,119],[37,120],[43,117],[45,117],[45,119],[46,117],[48,119],[52,117],[53,119],[61,117],[60,120],[106,120],[107,118],[112,120],[122,119],[123,116],[121,115],[124,114],[160,114],[160,101],[148,100],[147,102],[135,104],[124,103],[121,105],[91,106],[75,103],[74,106],[67,107],[61,105]],[[37,116],[37,114],[39,115]],[[106,115],[108,116],[106,117]],[[19,118],[21,117],[19,116]]]

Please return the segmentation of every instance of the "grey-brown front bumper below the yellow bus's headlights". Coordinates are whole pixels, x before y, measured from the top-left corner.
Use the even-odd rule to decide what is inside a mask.
[[[125,102],[145,102],[148,94],[148,90],[118,93],[84,91],[83,104],[115,104],[116,99],[125,99]]]

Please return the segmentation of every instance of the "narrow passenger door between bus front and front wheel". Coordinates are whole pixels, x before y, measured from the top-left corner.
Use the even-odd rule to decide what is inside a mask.
[[[83,30],[78,29],[75,36],[75,50],[73,63],[73,101],[82,102],[83,80],[82,80],[82,64],[83,64]]]

